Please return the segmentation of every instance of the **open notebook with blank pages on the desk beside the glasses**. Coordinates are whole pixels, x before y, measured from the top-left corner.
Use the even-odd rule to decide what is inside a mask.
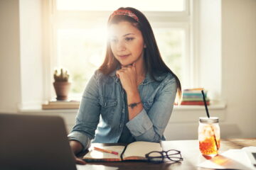
[[[92,144],[92,147],[89,148],[89,152],[82,157],[86,162],[122,162],[126,160],[146,161],[145,154],[152,151],[162,151],[161,145],[155,142],[132,142],[127,146],[100,147],[102,149],[118,152],[118,154],[101,152],[93,148],[94,146]]]

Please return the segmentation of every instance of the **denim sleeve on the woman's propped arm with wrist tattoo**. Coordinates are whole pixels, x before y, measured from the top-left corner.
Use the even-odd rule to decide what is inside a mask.
[[[174,108],[177,85],[176,80],[170,79],[161,84],[148,113],[142,111],[126,124],[137,141],[159,142],[164,134],[166,125]]]

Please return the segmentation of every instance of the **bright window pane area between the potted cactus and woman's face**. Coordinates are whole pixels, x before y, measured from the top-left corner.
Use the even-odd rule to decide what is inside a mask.
[[[102,30],[106,29],[102,27],[58,30],[58,65],[70,72],[71,97],[82,93],[104,60],[106,33]]]

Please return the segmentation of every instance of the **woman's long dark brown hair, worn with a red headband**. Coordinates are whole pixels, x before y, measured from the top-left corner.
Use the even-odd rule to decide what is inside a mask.
[[[139,22],[137,22],[134,18],[130,16],[110,16],[107,22],[108,28],[110,28],[111,24],[119,23],[120,21],[128,21],[129,23],[132,23],[135,27],[137,27],[142,32],[144,44],[146,45],[146,48],[144,48],[144,66],[146,72],[148,72],[150,77],[152,77],[155,81],[157,81],[155,78],[157,77],[157,75],[165,72],[170,72],[176,79],[178,98],[181,99],[181,82],[179,81],[176,74],[174,74],[174,72],[172,72],[171,69],[169,69],[169,67],[167,67],[164,61],[162,60],[159,48],[156,44],[156,39],[154,38],[153,30],[149,24],[149,21],[146,19],[146,16],[144,16],[142,12],[138,11],[135,8],[127,7],[119,9],[132,11],[132,13],[134,13],[137,16],[137,18],[139,18]],[[100,66],[99,70],[103,74],[107,75],[113,72],[115,69],[117,69],[117,67],[119,67],[119,62],[115,59],[110,47],[110,41],[108,40],[105,60],[103,64]]]

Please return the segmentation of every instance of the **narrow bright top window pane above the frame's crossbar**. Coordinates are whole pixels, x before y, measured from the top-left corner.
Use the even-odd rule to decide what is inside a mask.
[[[184,11],[184,0],[57,0],[58,10],[114,11],[119,7],[131,6],[140,11]]]

